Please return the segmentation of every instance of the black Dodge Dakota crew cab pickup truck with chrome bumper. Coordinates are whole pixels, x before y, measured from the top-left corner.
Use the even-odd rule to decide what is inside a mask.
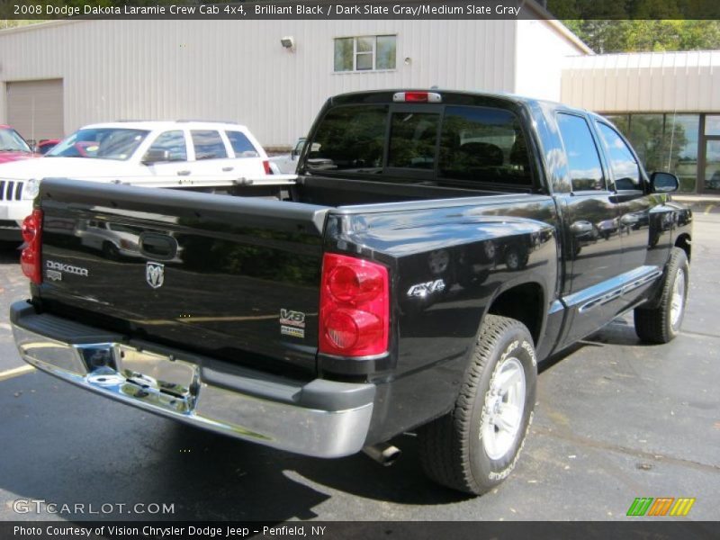
[[[195,426],[437,482],[515,466],[537,363],[634,310],[674,338],[691,213],[604,118],[517,96],[332,97],[294,184],[223,193],[45,179],[25,220],[23,358]],[[121,230],[112,255],[88,223]],[[112,227],[110,227],[112,226]]]

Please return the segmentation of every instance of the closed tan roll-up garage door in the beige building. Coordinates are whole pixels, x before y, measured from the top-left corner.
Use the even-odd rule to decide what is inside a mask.
[[[7,122],[25,139],[64,136],[62,79],[6,83]]]

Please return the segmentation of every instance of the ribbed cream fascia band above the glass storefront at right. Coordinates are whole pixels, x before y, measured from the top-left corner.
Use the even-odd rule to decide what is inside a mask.
[[[561,96],[600,112],[717,112],[720,50],[567,58]]]

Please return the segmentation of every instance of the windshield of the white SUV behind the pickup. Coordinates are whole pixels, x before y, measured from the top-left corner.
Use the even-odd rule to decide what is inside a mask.
[[[46,157],[94,157],[124,161],[148,136],[146,130],[89,128],[77,130],[52,148]]]

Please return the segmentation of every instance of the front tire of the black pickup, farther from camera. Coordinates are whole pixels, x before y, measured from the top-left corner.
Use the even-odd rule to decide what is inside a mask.
[[[673,297],[677,292],[675,284],[679,279],[680,313],[673,318]],[[653,308],[635,308],[635,333],[648,343],[668,343],[680,333],[688,302],[689,265],[688,256],[680,247],[673,247],[670,261],[662,278],[660,301]],[[676,299],[677,301],[677,299]]]

